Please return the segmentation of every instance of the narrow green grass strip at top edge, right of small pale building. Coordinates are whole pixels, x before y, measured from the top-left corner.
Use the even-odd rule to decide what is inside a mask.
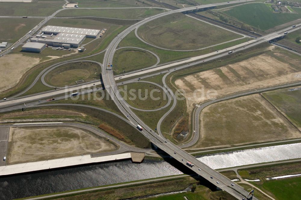
[[[123,7],[159,7],[158,4],[148,0],[78,0],[80,8],[123,8]],[[70,2],[71,3],[71,2]],[[73,2],[75,3],[75,2]]]

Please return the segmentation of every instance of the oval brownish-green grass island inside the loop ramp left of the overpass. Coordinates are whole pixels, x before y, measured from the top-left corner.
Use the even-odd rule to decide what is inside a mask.
[[[46,76],[45,81],[51,86],[64,87],[75,85],[75,81],[100,80],[101,66],[93,62],[76,62],[64,64],[51,70]]]

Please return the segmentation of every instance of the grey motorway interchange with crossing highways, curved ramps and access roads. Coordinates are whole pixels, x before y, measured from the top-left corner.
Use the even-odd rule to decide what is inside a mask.
[[[248,1],[252,1],[252,0],[247,0]],[[284,88],[284,87],[289,87],[289,86],[296,86],[296,85],[300,85],[301,82],[296,82],[296,83],[290,83],[290,84],[286,84],[286,85],[282,85],[282,86],[275,86],[275,87],[270,87],[270,88],[264,88],[264,89],[260,89],[260,90],[253,90],[253,91],[248,91],[248,92],[241,92],[238,94],[234,94],[234,95],[229,95],[223,98],[219,98],[219,99],[213,99],[210,101],[207,101],[201,105],[198,105],[197,109],[194,112],[194,131],[193,131],[193,137],[192,139],[180,146],[176,146],[175,144],[173,144],[172,142],[170,142],[169,140],[165,139],[163,134],[161,133],[160,130],[160,125],[163,122],[163,120],[166,118],[166,116],[175,108],[176,105],[176,98],[175,95],[173,94],[172,90],[168,88],[168,86],[165,83],[165,79],[166,77],[176,71],[176,70],[181,70],[187,67],[191,67],[193,65],[197,65],[200,63],[204,63],[207,61],[211,61],[214,59],[218,59],[224,56],[227,56],[229,54],[229,51],[231,51],[231,53],[236,53],[236,52],[240,52],[243,51],[247,48],[251,48],[255,45],[261,44],[263,42],[268,42],[272,39],[281,37],[284,35],[284,32],[292,32],[295,30],[299,30],[299,28],[301,27],[301,24],[296,24],[295,27],[287,27],[283,30],[274,32],[274,33],[270,33],[268,35],[256,38],[252,41],[240,44],[240,45],[236,45],[227,49],[223,49],[220,50],[219,52],[212,52],[206,55],[202,55],[202,56],[197,56],[197,57],[193,57],[193,58],[188,58],[185,60],[181,60],[178,62],[174,62],[171,64],[165,64],[165,65],[161,65],[161,66],[157,66],[157,64],[159,63],[159,61],[157,62],[156,65],[149,67],[146,70],[139,70],[139,71],[134,71],[131,73],[128,73],[124,76],[122,76],[120,78],[120,76],[114,77],[113,75],[113,70],[110,70],[107,68],[108,65],[110,65],[110,63],[112,63],[113,61],[113,55],[117,49],[117,46],[119,44],[119,42],[127,35],[129,34],[131,31],[136,31],[138,29],[138,27],[140,27],[141,25],[157,19],[159,17],[163,17],[166,16],[168,14],[172,14],[172,13],[177,13],[177,12],[184,12],[184,11],[190,11],[193,9],[200,9],[200,8],[206,8],[206,7],[211,7],[211,6],[216,6],[216,5],[225,5],[225,4],[234,4],[240,1],[233,1],[230,3],[219,3],[219,4],[210,4],[210,5],[202,5],[202,6],[197,6],[197,7],[190,7],[190,8],[182,8],[182,9],[178,9],[178,10],[172,10],[172,11],[167,11],[161,14],[157,14],[154,15],[152,17],[148,17],[144,20],[139,21],[138,23],[135,23],[134,25],[128,27],[126,30],[124,30],[122,33],[119,33],[118,36],[116,36],[108,45],[108,47],[102,51],[102,52],[98,52],[94,55],[90,55],[90,56],[86,56],[83,58],[78,58],[78,59],[73,59],[73,60],[69,60],[69,61],[64,61],[62,63],[57,63],[57,64],[53,64],[51,66],[49,66],[48,68],[44,69],[35,79],[35,81],[23,92],[19,93],[18,95],[12,96],[12,97],[7,97],[6,100],[0,101],[0,112],[7,112],[7,111],[12,111],[12,110],[17,110],[17,109],[21,109],[24,107],[24,104],[27,108],[33,108],[33,107],[41,107],[41,106],[49,106],[49,105],[45,105],[46,100],[40,100],[40,99],[45,99],[45,98],[49,98],[49,97],[55,97],[55,100],[60,100],[60,99],[64,99],[64,98],[68,98],[70,96],[69,95],[62,95],[64,94],[66,91],[64,88],[58,88],[56,90],[51,90],[48,92],[42,92],[39,94],[34,94],[34,95],[29,95],[29,96],[24,96],[24,97],[18,97],[20,95],[22,95],[23,93],[25,93],[26,91],[28,91],[31,87],[34,86],[34,84],[41,79],[42,83],[44,83],[47,86],[47,83],[45,83],[44,81],[44,77],[45,75],[50,71],[53,70],[55,67],[59,67],[62,64],[66,64],[66,63],[72,63],[72,62],[78,62],[79,59],[85,59],[85,61],[89,61],[89,57],[95,56],[95,55],[99,55],[100,53],[105,52],[104,55],[104,61],[103,63],[99,63],[99,62],[95,62],[95,61],[89,61],[89,62],[95,62],[99,65],[99,67],[101,67],[102,70],[102,80],[103,82],[101,83],[101,81],[94,81],[94,82],[90,82],[90,83],[84,83],[81,85],[76,85],[76,86],[70,86],[68,87],[67,91],[68,92],[72,92],[72,91],[76,91],[78,89],[81,88],[89,88],[85,91],[80,92],[81,95],[84,95],[86,93],[90,93],[90,92],[95,92],[97,90],[101,90],[103,89],[100,85],[103,84],[104,85],[104,89],[107,90],[108,94],[110,95],[110,97],[112,98],[113,102],[116,104],[116,106],[118,107],[118,109],[124,114],[124,116],[126,116],[126,119],[123,117],[120,117],[117,114],[114,114],[112,112],[110,112],[110,114],[114,114],[117,117],[119,117],[120,119],[124,120],[126,123],[129,123],[131,126],[133,127],[137,127],[137,125],[143,127],[143,129],[141,129],[141,134],[143,134],[146,138],[148,138],[154,145],[156,145],[158,148],[160,148],[161,150],[163,150],[164,152],[166,152],[167,154],[169,154],[171,157],[175,158],[179,163],[189,167],[191,170],[193,170],[195,173],[197,173],[198,175],[204,177],[205,179],[207,179],[209,182],[211,182],[212,184],[216,185],[217,187],[225,190],[226,192],[228,192],[229,194],[233,195],[235,198],[237,199],[244,199],[246,197],[248,197],[248,192],[246,190],[244,190],[244,188],[242,188],[241,186],[237,185],[236,183],[234,183],[233,181],[231,181],[230,179],[224,177],[222,174],[218,173],[216,170],[211,169],[210,167],[208,167],[207,165],[201,163],[200,161],[198,161],[196,158],[194,158],[192,155],[190,155],[189,153],[185,152],[182,148],[188,147],[193,145],[197,140],[198,140],[198,136],[199,136],[199,115],[201,110],[212,104],[215,102],[219,102],[219,101],[223,101],[226,99],[230,99],[230,98],[234,98],[234,97],[239,97],[239,96],[243,96],[243,95],[250,95],[250,94],[254,94],[254,93],[259,93],[259,92],[263,92],[263,91],[268,91],[268,90],[272,90],[272,89],[278,89],[278,88]],[[47,17],[47,19],[39,24],[39,27],[36,27],[35,30],[39,30],[39,28],[45,24],[49,19],[51,19],[52,17],[54,17],[55,13],[52,14],[51,16]],[[34,31],[35,31],[34,30]],[[28,35],[27,35],[28,36]],[[17,42],[15,44],[15,46],[19,45],[22,43],[22,41],[24,42],[26,40],[26,36],[23,37],[23,39],[21,39],[19,42]],[[4,52],[4,54],[8,53]],[[119,90],[117,88],[118,85],[123,85],[123,84],[127,84],[127,83],[132,83],[132,82],[137,82],[137,76],[139,76],[139,79],[143,79],[146,77],[151,77],[154,75],[159,75],[159,74],[165,74],[163,77],[163,84],[165,86],[165,88],[163,88],[163,91],[166,92],[167,96],[168,96],[168,103],[164,106],[164,108],[166,108],[168,105],[170,105],[171,101],[173,100],[173,105],[172,107],[169,109],[169,111],[167,111],[163,117],[159,120],[158,124],[157,124],[157,133],[155,133],[154,130],[152,130],[150,127],[147,126],[147,124],[145,122],[143,122],[139,117],[137,117],[137,115],[132,111],[132,109],[136,109],[133,108],[132,106],[128,105],[128,103],[122,98],[122,96],[119,93]],[[147,75],[145,75],[147,74]],[[116,80],[122,80],[122,79],[129,79],[132,78],[131,80],[125,80],[122,83],[116,83]],[[141,80],[140,82],[144,82],[143,80]],[[53,86],[50,86],[53,87]],[[58,96],[58,95],[62,95],[62,96]],[[57,97],[58,96],[58,97]],[[53,105],[67,105],[67,104],[53,104]],[[73,104],[74,105],[74,104]],[[96,108],[93,106],[88,106],[88,105],[75,105],[75,106],[86,106],[86,107],[91,107],[91,108]],[[109,112],[106,111],[104,109],[101,108],[96,108],[99,109],[101,111],[105,111],[105,112]],[[160,108],[159,108],[160,109]],[[155,109],[155,110],[159,110],[159,109]],[[151,111],[155,111],[155,110],[151,110]],[[79,126],[76,125],[74,123],[66,123],[65,125],[70,125],[70,126]],[[92,129],[91,126],[89,125],[82,125],[83,127],[87,128],[87,129]],[[104,133],[102,133],[100,130],[93,128],[93,131],[95,131],[95,133],[98,133],[100,135],[104,135]],[[106,136],[108,137],[108,136]],[[141,151],[141,149],[138,148],[133,148],[130,147],[129,145],[126,145],[122,142],[117,141],[114,138],[110,138],[112,139],[114,142],[116,142],[118,145],[120,145],[122,148],[119,149],[117,152],[110,152],[112,153],[119,153],[119,152],[124,152],[124,151],[136,151],[136,152],[143,152]],[[150,151],[150,150],[145,150],[145,151]],[[144,151],[144,152],[145,152]],[[107,153],[108,154],[108,153]],[[187,161],[192,162],[194,165],[187,165]],[[253,199],[257,199],[256,197],[253,197]]]

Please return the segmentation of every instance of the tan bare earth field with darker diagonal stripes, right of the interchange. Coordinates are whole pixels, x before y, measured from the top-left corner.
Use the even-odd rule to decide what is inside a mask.
[[[278,48],[269,48],[272,51],[176,80],[176,86],[186,92],[188,111],[192,110],[193,104],[208,98],[300,81],[301,59],[291,57]],[[197,98],[194,98],[194,91],[202,87],[205,95],[197,92]],[[207,98],[206,92],[210,89],[216,90],[217,95]]]

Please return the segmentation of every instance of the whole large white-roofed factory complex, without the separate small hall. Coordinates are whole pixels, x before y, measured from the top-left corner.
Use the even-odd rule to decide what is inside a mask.
[[[100,30],[46,26],[41,29],[40,35],[31,38],[31,42],[44,43],[54,47],[77,48],[86,38],[96,38]]]

